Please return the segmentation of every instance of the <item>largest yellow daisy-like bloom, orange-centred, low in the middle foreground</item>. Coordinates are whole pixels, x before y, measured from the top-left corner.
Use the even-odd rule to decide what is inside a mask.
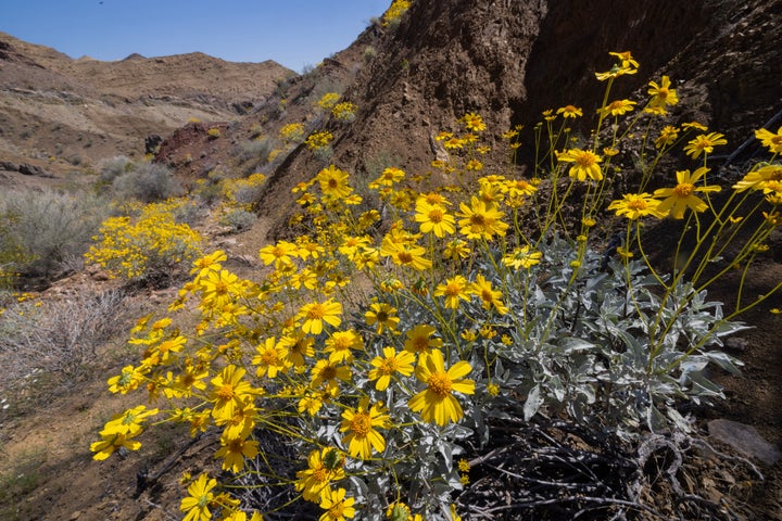
[[[439,350],[421,353],[415,376],[427,387],[413,396],[407,405],[414,412],[420,412],[424,421],[433,421],[438,425],[461,420],[464,411],[453,393],[475,393],[475,381],[464,378],[471,370],[472,367],[464,360],[445,370],[443,354]]]

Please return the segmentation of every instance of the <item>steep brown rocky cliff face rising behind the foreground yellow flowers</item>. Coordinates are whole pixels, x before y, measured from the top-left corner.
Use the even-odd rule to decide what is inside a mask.
[[[732,151],[782,110],[781,17],[780,0],[417,0],[378,36],[377,58],[346,89],[360,113],[349,128],[331,127],[332,161],[356,175],[379,155],[426,170],[431,137],[467,111],[483,115],[494,141],[568,103],[590,125],[605,87],[594,73],[610,67],[609,51],[641,62],[617,82],[617,98],[645,96],[667,74],[680,90],[673,117],[726,134]],[[274,177],[287,188],[318,168],[301,149]],[[282,189],[270,195],[286,198]]]

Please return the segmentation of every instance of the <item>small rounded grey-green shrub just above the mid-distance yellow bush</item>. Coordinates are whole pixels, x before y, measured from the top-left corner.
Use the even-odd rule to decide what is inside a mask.
[[[115,199],[126,201],[135,199],[142,203],[163,201],[181,195],[184,190],[172,170],[157,163],[138,163],[112,182]]]

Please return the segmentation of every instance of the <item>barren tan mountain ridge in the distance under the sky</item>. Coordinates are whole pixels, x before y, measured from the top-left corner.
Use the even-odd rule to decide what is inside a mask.
[[[200,52],[73,60],[0,33],[0,162],[56,174],[140,156],[148,136],[165,137],[191,119],[235,119],[294,75],[273,61],[232,63]]]

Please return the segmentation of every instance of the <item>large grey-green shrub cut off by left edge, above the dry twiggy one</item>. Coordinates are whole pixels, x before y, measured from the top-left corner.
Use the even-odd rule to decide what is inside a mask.
[[[53,190],[5,191],[0,195],[0,268],[5,274],[52,278],[62,262],[89,246],[110,213],[101,198]]]

